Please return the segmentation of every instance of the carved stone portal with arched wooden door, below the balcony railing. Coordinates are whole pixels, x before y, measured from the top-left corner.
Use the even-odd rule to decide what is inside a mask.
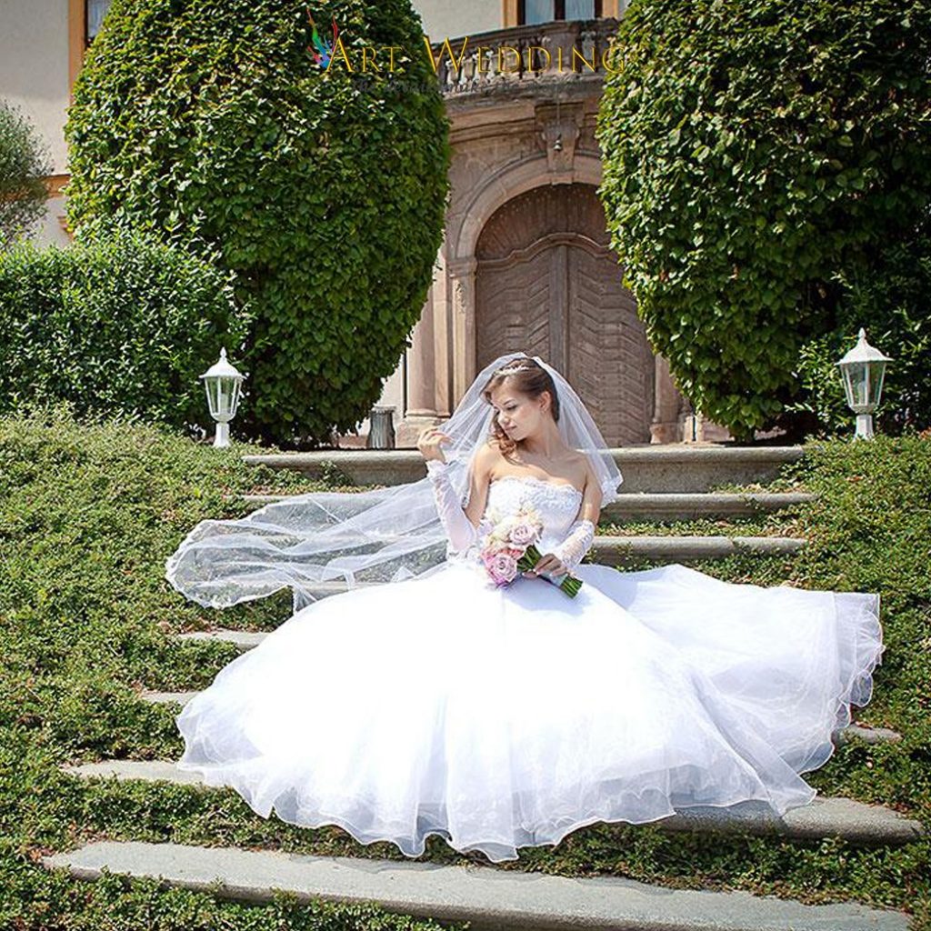
[[[415,445],[484,364],[514,349],[566,374],[608,442],[681,440],[682,398],[665,360],[650,351],[608,248],[596,195],[599,99],[600,81],[583,79],[499,82],[488,94],[447,96],[444,241],[406,376],[383,400],[404,412],[399,446]],[[505,270],[516,277],[507,280]],[[510,322],[494,307],[509,308]]]

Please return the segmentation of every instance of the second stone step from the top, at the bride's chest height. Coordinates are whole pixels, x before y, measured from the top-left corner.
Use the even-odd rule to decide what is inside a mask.
[[[300,493],[300,492],[296,492]],[[257,507],[287,501],[296,494],[228,494],[229,500]],[[631,520],[695,520],[752,517],[796,507],[815,500],[809,492],[631,492],[601,510],[601,519],[614,523]]]

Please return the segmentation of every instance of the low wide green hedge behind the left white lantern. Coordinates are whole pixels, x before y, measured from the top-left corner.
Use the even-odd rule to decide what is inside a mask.
[[[128,233],[0,255],[0,412],[67,399],[80,416],[209,427],[197,376],[250,319],[212,265]]]

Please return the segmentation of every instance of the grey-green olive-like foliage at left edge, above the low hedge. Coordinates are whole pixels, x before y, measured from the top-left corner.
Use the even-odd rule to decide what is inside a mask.
[[[0,99],[0,250],[42,216],[51,161],[45,142],[18,107]]]

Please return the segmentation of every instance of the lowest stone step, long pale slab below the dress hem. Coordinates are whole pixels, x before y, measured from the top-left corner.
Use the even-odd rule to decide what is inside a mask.
[[[573,878],[363,857],[180,843],[97,841],[42,857],[47,870],[77,879],[103,871],[160,879],[175,887],[247,902],[274,891],[300,903],[329,899],[376,903],[385,911],[434,921],[467,921],[473,931],[907,931],[906,913],[856,902],[804,905],[747,892],[673,889],[613,876]]]

